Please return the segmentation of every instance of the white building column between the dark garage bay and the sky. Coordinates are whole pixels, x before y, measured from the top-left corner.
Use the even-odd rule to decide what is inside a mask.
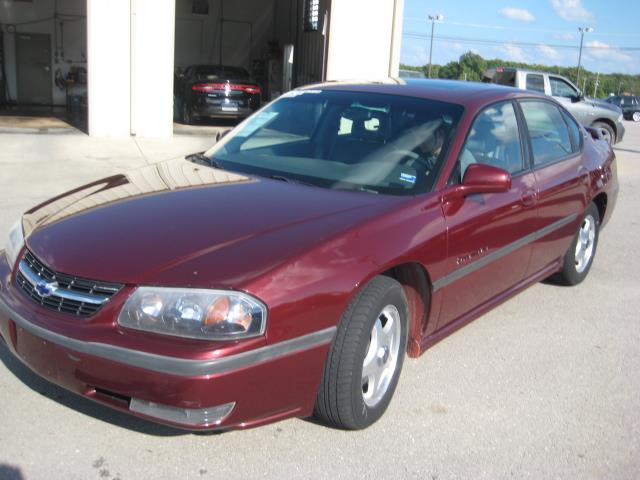
[[[396,0],[331,2],[327,80],[389,76],[392,51],[396,48],[393,42],[396,3]]]

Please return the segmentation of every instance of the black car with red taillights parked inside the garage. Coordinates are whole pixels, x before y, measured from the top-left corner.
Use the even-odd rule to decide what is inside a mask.
[[[244,118],[260,108],[262,90],[244,68],[194,65],[174,79],[174,108],[187,125],[203,118]]]

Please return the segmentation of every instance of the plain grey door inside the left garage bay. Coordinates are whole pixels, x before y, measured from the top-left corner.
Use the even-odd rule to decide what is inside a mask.
[[[18,103],[51,105],[51,35],[16,33]]]

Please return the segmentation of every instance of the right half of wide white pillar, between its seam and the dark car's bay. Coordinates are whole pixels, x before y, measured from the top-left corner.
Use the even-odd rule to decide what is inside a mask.
[[[131,0],[131,130],[139,137],[173,135],[175,10],[175,0]]]

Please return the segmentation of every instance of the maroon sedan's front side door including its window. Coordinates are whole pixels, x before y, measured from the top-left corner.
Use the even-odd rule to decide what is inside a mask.
[[[469,164],[485,163],[511,173],[512,186],[508,192],[470,195],[444,204],[448,273],[434,282],[434,290],[444,288],[438,328],[525,276],[537,209],[535,178],[520,129],[512,102],[494,104],[476,117],[461,150],[452,183],[460,182]]]

